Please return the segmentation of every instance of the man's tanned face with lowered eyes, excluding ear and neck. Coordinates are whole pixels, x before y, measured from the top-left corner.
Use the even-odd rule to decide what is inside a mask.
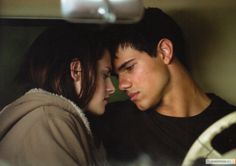
[[[150,57],[129,46],[119,48],[116,57],[119,89],[125,91],[140,110],[159,104],[170,78],[162,58]]]

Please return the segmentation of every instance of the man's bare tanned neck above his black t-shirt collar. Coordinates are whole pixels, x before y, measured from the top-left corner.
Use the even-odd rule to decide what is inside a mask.
[[[173,66],[170,73],[171,81],[156,111],[173,117],[190,117],[204,111],[211,101],[188,72],[181,66]]]

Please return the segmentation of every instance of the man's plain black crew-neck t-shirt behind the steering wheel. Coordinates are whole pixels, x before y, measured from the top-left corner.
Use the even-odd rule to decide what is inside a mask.
[[[142,112],[130,101],[109,104],[106,113],[92,123],[95,137],[103,142],[111,165],[180,165],[197,137],[236,107],[216,95],[193,117],[170,117],[153,110]],[[233,132],[234,130],[234,132]],[[224,152],[236,146],[236,127],[214,142]],[[220,143],[219,143],[220,142]],[[218,147],[217,147],[218,146]],[[235,147],[236,148],[236,147]],[[145,163],[146,162],[146,163]]]

